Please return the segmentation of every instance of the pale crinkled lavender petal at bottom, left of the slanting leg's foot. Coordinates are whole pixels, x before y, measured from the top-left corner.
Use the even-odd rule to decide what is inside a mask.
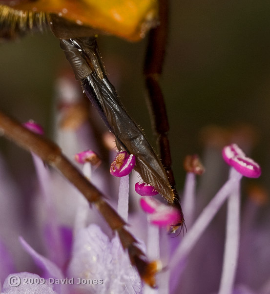
[[[75,236],[68,274],[75,278],[102,280],[98,285],[77,285],[82,293],[141,293],[140,277],[130,266],[119,238],[110,241],[97,225],[92,224]]]

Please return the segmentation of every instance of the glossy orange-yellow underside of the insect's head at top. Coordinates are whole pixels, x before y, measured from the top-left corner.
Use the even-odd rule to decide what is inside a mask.
[[[157,24],[157,0],[0,0],[1,3],[21,13],[55,14],[77,25],[129,41],[144,38],[145,33]]]

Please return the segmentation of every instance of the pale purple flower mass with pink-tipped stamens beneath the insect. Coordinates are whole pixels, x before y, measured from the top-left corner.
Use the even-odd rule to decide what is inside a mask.
[[[94,132],[85,121],[76,127],[69,124],[65,112],[72,103],[62,107],[57,117],[57,121],[65,118],[64,127],[57,129],[56,134],[63,151],[70,158],[89,148],[99,153]],[[122,161],[114,161],[113,169],[120,179],[112,177],[103,162],[99,167],[91,167],[87,160],[80,160],[84,176],[108,198],[112,196],[110,203],[140,240],[142,251],[154,261],[153,270],[160,270],[157,289],[150,289],[140,279],[118,234],[112,234],[99,213],[34,154],[37,179],[31,205],[35,222],[31,227],[20,223],[21,215],[12,198],[19,189],[3,173],[1,163],[0,184],[5,195],[0,191],[0,217],[8,229],[2,226],[0,230],[1,293],[270,294],[268,222],[262,219],[258,225],[255,221],[263,203],[257,200],[262,190],[253,189],[253,198],[247,200],[243,212],[240,206],[242,177],[259,176],[260,167],[239,147],[225,147],[223,157],[230,166],[228,180],[217,193],[212,193],[211,189],[219,185],[214,181],[216,174],[220,170],[225,174],[226,166],[222,151],[216,148],[209,152],[208,148],[206,154],[211,153],[213,160],[203,158],[205,168],[197,156],[189,157],[185,164],[182,204],[187,232],[183,235],[167,233],[169,225],[178,218],[178,210],[166,205],[159,196],[141,197],[135,192],[138,174],[128,175],[135,165],[132,155],[121,152]],[[108,157],[113,161],[115,150],[109,150]],[[201,176],[199,183],[197,175]],[[20,254],[16,255],[19,247]],[[15,287],[12,283],[16,281],[31,283]]]

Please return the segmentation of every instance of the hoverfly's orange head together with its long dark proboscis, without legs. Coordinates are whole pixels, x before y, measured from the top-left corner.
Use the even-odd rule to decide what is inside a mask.
[[[157,14],[157,0],[0,0],[0,38],[49,27],[118,149],[136,156],[135,170],[172,204],[175,195],[166,171],[107,79],[96,41],[101,32],[138,41],[157,24]],[[182,225],[182,211],[180,218]]]

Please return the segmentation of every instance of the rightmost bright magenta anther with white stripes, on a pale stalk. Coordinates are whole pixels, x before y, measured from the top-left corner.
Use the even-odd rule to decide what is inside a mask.
[[[225,146],[222,150],[222,156],[229,166],[235,168],[243,176],[258,178],[262,173],[260,166],[247,157],[236,144]]]

